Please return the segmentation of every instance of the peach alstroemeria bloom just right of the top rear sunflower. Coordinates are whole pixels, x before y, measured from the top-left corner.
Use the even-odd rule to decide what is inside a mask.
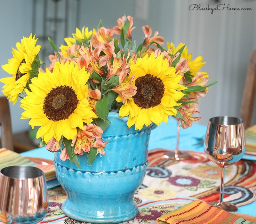
[[[107,29],[105,27],[101,27],[96,34],[92,35],[92,39],[90,42],[94,47],[99,46],[101,43],[108,44],[112,41],[114,32],[114,29]]]

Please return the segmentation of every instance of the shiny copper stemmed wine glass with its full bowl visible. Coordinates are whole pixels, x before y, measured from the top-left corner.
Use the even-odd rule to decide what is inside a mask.
[[[239,161],[245,152],[243,120],[220,116],[209,120],[204,140],[204,152],[221,167],[220,201],[209,203],[229,212],[237,211],[234,204],[223,202],[225,168]]]

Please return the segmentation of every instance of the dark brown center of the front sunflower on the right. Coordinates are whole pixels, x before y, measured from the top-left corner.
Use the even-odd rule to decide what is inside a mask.
[[[133,97],[134,103],[141,108],[151,108],[159,105],[164,95],[164,84],[156,76],[147,74],[135,80],[137,93]]]

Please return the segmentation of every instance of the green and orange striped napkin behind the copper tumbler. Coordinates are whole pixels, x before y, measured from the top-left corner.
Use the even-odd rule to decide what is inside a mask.
[[[38,164],[32,162],[26,157],[20,156],[20,154],[13,152],[6,148],[0,148],[0,170],[6,166],[13,166],[13,165],[29,165],[29,166],[36,166],[44,171],[46,181],[56,179],[56,174],[54,170],[53,164]]]

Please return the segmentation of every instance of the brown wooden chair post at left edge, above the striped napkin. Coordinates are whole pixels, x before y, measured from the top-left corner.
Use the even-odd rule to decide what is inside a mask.
[[[0,126],[1,126],[1,146],[13,151],[12,125],[8,99],[0,97]]]

